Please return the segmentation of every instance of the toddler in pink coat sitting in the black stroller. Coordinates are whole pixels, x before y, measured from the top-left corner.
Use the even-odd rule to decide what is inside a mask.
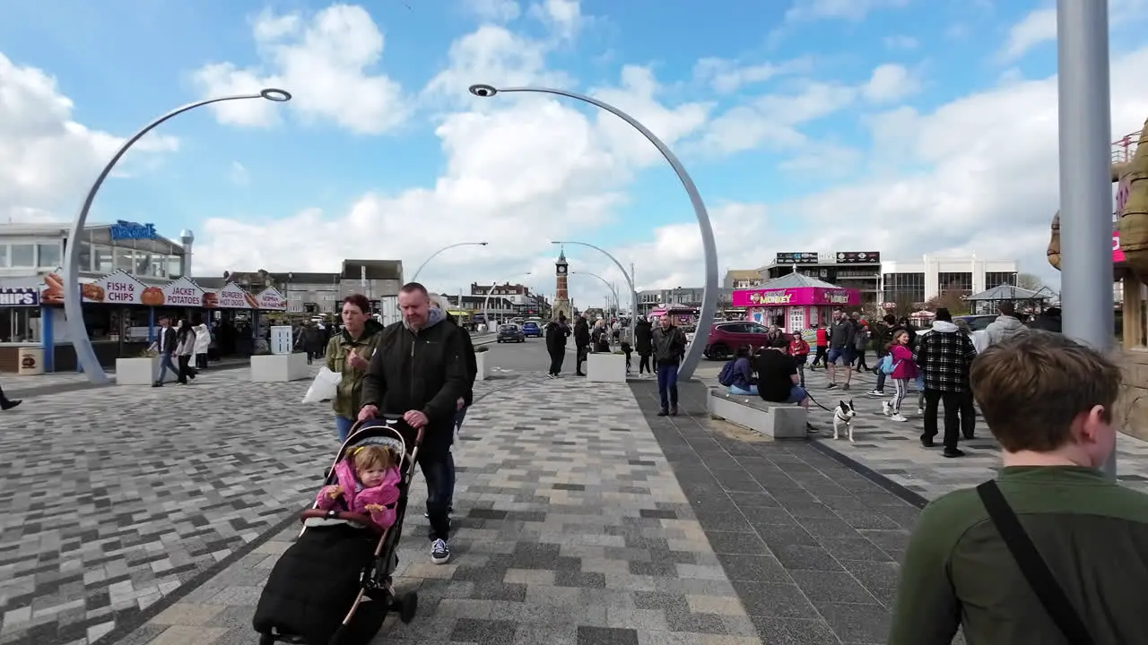
[[[395,524],[398,502],[398,458],[381,445],[355,448],[350,457],[335,465],[339,483],[326,485],[316,498],[324,511],[341,507],[351,513],[370,513],[382,527]]]

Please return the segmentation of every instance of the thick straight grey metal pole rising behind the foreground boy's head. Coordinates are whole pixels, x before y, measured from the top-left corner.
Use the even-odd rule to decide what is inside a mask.
[[[1056,3],[1064,333],[1112,349],[1108,0]],[[1116,451],[1104,464],[1116,477]]]

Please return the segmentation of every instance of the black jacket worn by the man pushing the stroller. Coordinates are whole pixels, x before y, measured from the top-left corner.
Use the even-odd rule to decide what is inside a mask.
[[[434,310],[433,310],[434,311]],[[363,378],[359,406],[427,415],[424,454],[441,454],[455,438],[458,398],[470,389],[465,334],[445,318],[412,333],[400,321],[382,331]]]

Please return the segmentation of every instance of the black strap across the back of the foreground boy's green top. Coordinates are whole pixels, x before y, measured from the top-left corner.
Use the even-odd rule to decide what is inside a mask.
[[[1095,642],[1088,635],[1088,628],[1080,620],[1080,614],[1077,613],[1072,601],[1064,593],[1064,588],[1056,582],[1053,572],[1040,557],[1037,545],[1032,543],[1029,534],[1021,526],[1021,520],[1017,519],[1016,513],[1001,495],[996,482],[990,480],[978,485],[977,495],[980,496],[980,502],[988,511],[988,516],[1004,539],[1004,545],[1008,546],[1013,559],[1021,567],[1024,580],[1029,582],[1033,593],[1040,599],[1048,616],[1068,638],[1069,645],[1093,645]]]

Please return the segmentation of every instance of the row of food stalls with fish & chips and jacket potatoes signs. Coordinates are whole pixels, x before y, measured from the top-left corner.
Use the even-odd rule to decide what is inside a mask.
[[[0,288],[0,339],[5,341],[0,342],[0,371],[17,371],[21,350],[30,343],[42,348],[44,371],[77,368],[76,351],[64,324],[64,285],[60,273],[48,273],[34,287]],[[201,319],[214,327],[217,336],[220,329],[226,329],[232,351],[222,353],[249,356],[254,352],[261,314],[287,309],[286,298],[273,288],[253,295],[228,282],[220,289],[205,290],[187,278],[149,283],[123,270],[82,280],[78,288],[84,326],[104,366],[146,350],[156,337],[161,318]],[[5,304],[9,302],[10,305]],[[5,334],[6,331],[9,333]],[[219,339],[220,349],[223,340]]]

